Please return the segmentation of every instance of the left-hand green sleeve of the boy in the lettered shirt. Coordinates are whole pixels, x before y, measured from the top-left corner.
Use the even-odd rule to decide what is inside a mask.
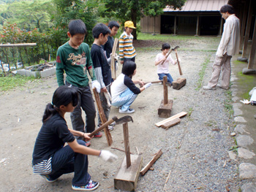
[[[64,54],[61,53],[61,50],[58,49],[57,55],[56,55],[56,77],[58,85],[65,85],[64,83],[64,65],[65,65],[65,59]]]

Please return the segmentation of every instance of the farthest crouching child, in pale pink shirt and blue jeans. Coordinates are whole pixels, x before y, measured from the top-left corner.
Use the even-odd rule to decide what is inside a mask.
[[[159,80],[163,80],[164,76],[167,76],[167,82],[172,85],[173,77],[170,76],[169,73],[169,64],[177,64],[177,61],[173,61],[173,58],[171,55],[168,55],[167,53],[170,51],[170,45],[167,43],[164,43],[162,45],[162,53],[158,53],[155,61],[155,66],[157,66],[157,74],[159,77]]]

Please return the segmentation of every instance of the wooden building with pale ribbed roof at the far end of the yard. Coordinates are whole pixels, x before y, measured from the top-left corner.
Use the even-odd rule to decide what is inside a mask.
[[[228,0],[187,0],[181,9],[166,7],[157,18],[140,19],[140,30],[144,33],[220,35],[223,20],[220,7]],[[155,23],[155,24],[154,24]]]

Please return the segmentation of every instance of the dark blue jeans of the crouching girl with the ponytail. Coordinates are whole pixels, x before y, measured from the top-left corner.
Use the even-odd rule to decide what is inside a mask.
[[[79,145],[85,145],[83,140],[78,140]],[[75,172],[72,185],[83,186],[91,179],[88,173],[88,157],[81,153],[75,153],[69,145],[54,153],[51,160],[52,172],[50,178],[56,180],[62,174]]]

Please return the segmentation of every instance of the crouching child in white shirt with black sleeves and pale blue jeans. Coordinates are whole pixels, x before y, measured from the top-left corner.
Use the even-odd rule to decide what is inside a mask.
[[[119,107],[120,113],[132,113],[135,110],[130,106],[139,93],[151,86],[151,82],[144,85],[143,81],[132,80],[132,76],[136,74],[136,64],[133,61],[126,61],[123,65],[121,74],[111,85],[112,105]],[[139,84],[140,88],[135,84]]]

